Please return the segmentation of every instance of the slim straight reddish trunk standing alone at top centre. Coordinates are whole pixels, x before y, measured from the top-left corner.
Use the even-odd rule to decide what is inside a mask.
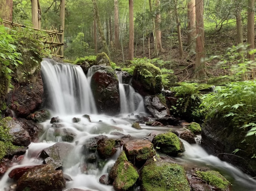
[[[128,53],[128,60],[133,60],[133,43],[134,43],[133,0],[129,0],[129,53]]]

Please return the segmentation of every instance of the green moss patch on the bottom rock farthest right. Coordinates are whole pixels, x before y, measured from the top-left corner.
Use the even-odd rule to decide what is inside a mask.
[[[221,191],[225,191],[229,187],[229,181],[216,171],[196,171],[199,178],[206,181],[211,186],[214,186]]]

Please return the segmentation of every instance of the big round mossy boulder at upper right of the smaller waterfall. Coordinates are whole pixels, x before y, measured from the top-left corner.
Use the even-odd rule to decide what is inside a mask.
[[[160,68],[151,63],[138,64],[133,71],[132,86],[141,95],[160,94],[162,89]]]

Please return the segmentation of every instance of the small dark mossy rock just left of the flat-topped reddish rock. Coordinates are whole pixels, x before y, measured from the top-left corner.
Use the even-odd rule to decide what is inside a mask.
[[[114,139],[104,139],[98,141],[97,151],[102,159],[107,159],[116,153],[116,140]]]

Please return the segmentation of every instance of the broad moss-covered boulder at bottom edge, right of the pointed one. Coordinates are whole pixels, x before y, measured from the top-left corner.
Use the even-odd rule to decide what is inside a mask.
[[[175,163],[151,162],[141,173],[144,191],[190,191],[185,170]]]

